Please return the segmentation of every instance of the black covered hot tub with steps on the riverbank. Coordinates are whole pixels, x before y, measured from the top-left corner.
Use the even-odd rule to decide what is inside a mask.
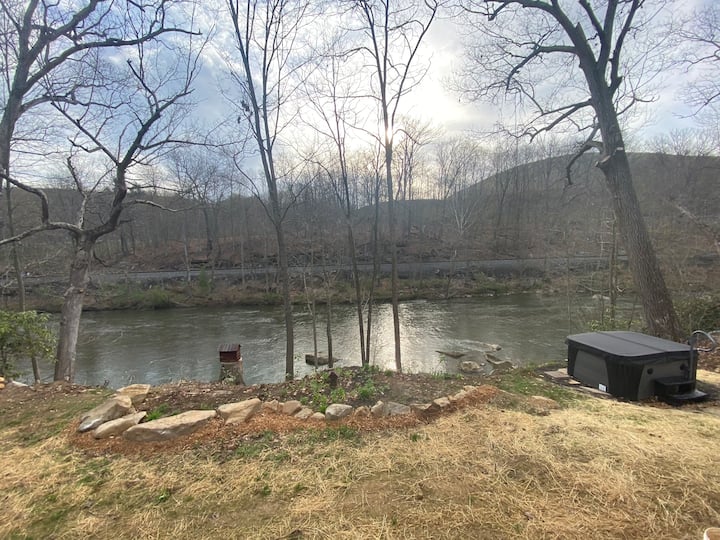
[[[575,334],[567,344],[568,375],[613,396],[636,401],[701,394],[689,345],[637,332]]]

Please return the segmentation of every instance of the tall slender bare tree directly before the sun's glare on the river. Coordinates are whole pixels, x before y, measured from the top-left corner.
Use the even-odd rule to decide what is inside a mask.
[[[396,119],[402,97],[417,84],[417,74],[411,68],[423,38],[430,29],[439,4],[435,0],[422,3],[392,0],[355,0],[360,18],[359,30],[364,36],[373,72],[372,95],[378,103],[385,157],[385,183],[388,198],[388,237],[391,256],[391,296],[395,337],[395,368],[402,371],[400,351],[400,311],[398,297],[398,256],[393,181],[393,149]]]

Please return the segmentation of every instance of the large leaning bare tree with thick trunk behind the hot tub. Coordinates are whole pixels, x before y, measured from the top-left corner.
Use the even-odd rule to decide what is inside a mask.
[[[663,43],[671,34],[661,28],[665,2],[580,0],[565,7],[556,0],[488,0],[465,7],[490,21],[482,31],[492,38],[484,48],[470,50],[465,90],[476,98],[512,93],[533,112],[529,123],[519,126],[523,133],[533,137],[570,125],[585,135],[577,156],[600,151],[597,166],[611,194],[648,329],[679,338],[620,123],[634,104],[647,100],[645,85],[664,67]]]

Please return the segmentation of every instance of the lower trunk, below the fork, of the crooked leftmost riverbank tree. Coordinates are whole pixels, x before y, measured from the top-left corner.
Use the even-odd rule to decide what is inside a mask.
[[[80,317],[82,315],[85,290],[90,277],[90,261],[95,241],[87,238],[75,239],[75,253],[70,266],[70,283],[65,291],[60,312],[60,330],[55,363],[56,381],[72,382],[75,376],[75,356]]]

